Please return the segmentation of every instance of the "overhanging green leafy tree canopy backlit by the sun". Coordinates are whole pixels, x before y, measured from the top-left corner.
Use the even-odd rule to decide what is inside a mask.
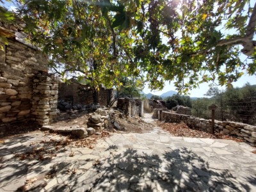
[[[93,85],[175,81],[188,92],[255,74],[256,4],[239,0],[22,0],[20,15],[52,67],[82,72]],[[243,49],[241,48],[243,46]],[[241,60],[244,54],[250,60]]]

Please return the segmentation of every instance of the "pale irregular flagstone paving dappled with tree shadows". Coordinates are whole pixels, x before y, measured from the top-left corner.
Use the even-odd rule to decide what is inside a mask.
[[[61,136],[38,131],[0,144],[0,191],[27,179],[44,186],[31,191],[256,191],[256,154],[246,143],[174,137],[156,127],[113,134],[93,149],[63,147],[51,160],[13,156],[51,139]]]

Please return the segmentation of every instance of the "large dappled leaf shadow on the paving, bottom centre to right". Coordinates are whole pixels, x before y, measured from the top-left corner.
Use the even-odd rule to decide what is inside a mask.
[[[228,170],[209,168],[188,148],[170,149],[163,156],[127,149],[106,158],[97,170],[102,177],[88,191],[252,191],[256,186],[256,176],[237,180]]]

